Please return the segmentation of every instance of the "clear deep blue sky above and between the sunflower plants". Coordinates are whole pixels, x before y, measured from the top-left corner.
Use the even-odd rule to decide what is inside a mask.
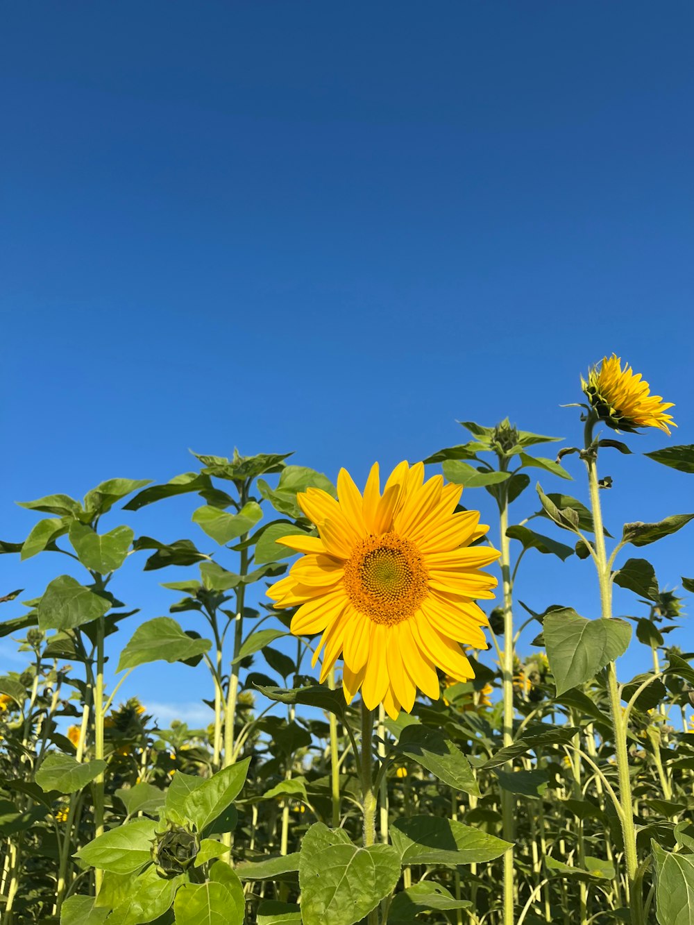
[[[189,448],[360,482],[461,442],[456,419],[574,443],[559,405],[611,351],[676,403],[634,449],[694,442],[691,27],[678,0],[4,6],[2,537],[34,523],[15,500],[164,481]],[[570,468],[543,486],[585,499]],[[602,471],[613,532],[694,509],[687,475]],[[195,505],[109,523],[211,552]],[[642,551],[672,587],[690,549]],[[118,589],[148,619],[183,573],[142,563]],[[58,570],[3,557],[0,581],[35,597]],[[593,578],[530,554],[517,590],[590,616]],[[190,712],[208,687],[155,666],[135,692]]]

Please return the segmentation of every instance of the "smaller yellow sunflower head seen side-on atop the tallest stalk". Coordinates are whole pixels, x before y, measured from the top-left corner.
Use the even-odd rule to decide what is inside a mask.
[[[665,413],[675,405],[663,402],[660,395],[651,395],[641,374],[634,373],[628,364],[622,369],[622,361],[614,353],[589,370],[588,382],[581,376],[581,386],[598,417],[613,430],[659,427],[669,434],[668,425],[677,426],[672,415]]]

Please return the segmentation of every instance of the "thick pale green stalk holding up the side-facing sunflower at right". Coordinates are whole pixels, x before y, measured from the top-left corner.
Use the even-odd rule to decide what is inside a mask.
[[[589,413],[586,422],[586,452],[584,460],[588,469],[588,483],[590,491],[590,507],[595,527],[595,564],[600,582],[601,616],[603,620],[612,619],[612,573],[605,550],[605,536],[602,526],[602,511],[600,500],[600,487],[598,484],[597,450],[591,449],[592,431],[597,417]],[[628,886],[627,902],[631,910],[632,925],[643,925],[642,895],[640,883],[637,882],[638,856],[636,842],[636,828],[634,826],[634,806],[631,796],[631,780],[629,778],[629,755],[626,748],[626,723],[622,713],[622,703],[617,685],[617,672],[614,662],[607,666],[607,693],[610,698],[610,713],[612,715],[614,734],[614,756],[617,762],[617,778],[619,781],[619,801],[622,807],[622,834],[625,846],[626,880]]]

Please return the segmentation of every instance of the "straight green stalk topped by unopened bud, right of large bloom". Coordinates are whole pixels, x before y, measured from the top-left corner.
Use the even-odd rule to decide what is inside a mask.
[[[502,471],[505,469],[505,460],[502,460]],[[506,483],[501,486],[500,492],[500,528],[501,551],[500,561],[503,583],[503,652],[502,652],[502,692],[503,692],[503,745],[510,746],[514,741],[514,613],[513,613],[513,584],[511,578],[511,551],[509,539],[506,536],[508,529],[508,490]],[[504,765],[505,771],[513,771],[513,761]],[[514,805],[515,798],[507,790],[502,790],[502,826],[503,838],[507,842],[514,841]],[[503,856],[503,925],[514,925],[514,849]]]

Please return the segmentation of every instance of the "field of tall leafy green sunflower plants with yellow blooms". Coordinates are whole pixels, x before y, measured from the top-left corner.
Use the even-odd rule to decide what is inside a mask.
[[[694,922],[694,652],[670,642],[694,577],[642,550],[694,513],[601,507],[673,406],[616,356],[581,383],[568,441],[464,422],[361,489],[234,451],[21,502],[41,519],[4,574],[55,577],[0,589],[25,664],[0,677],[2,925]],[[694,445],[647,455],[694,474]],[[194,539],[142,535],[181,495]],[[130,557],[167,568],[167,616]],[[600,611],[571,581],[516,598],[526,557],[579,560]],[[119,697],[156,661],[204,677],[204,728]]]

